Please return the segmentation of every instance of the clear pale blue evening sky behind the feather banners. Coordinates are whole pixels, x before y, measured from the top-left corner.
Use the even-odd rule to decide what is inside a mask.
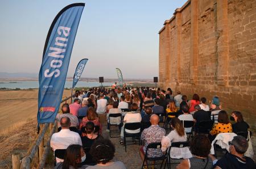
[[[0,72],[39,73],[44,43],[56,14],[85,2],[68,77],[88,58],[84,78],[158,76],[159,30],[187,0],[1,1]]]

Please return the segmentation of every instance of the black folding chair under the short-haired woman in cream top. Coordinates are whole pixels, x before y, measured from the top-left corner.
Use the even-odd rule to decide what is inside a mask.
[[[127,133],[125,131],[125,129],[127,130],[137,130],[140,129],[140,131],[138,133]],[[126,152],[126,138],[127,137],[138,137],[139,139],[141,138],[141,122],[129,122],[126,123],[123,129],[123,145],[125,146],[125,152]]]

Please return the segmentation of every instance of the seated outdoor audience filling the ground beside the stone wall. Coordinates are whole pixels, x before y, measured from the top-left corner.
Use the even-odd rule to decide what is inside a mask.
[[[53,151],[65,149],[64,159],[56,157],[56,168],[125,168],[122,162],[113,162],[115,147],[110,140],[102,137],[102,125],[106,122],[106,132],[110,124],[118,125],[123,145],[124,132],[140,133],[142,146],[139,154],[144,161],[147,146],[158,142],[158,150],[148,150],[148,157],[184,159],[177,168],[253,168],[255,163],[245,157],[250,138],[245,138],[249,125],[243,120],[242,113],[233,111],[231,116],[222,109],[220,99],[213,96],[210,105],[205,97],[194,94],[191,100],[186,95],[172,95],[160,88],[125,87],[90,88],[88,91],[76,91],[72,104],[63,104],[62,113],[56,116],[59,132],[53,134]],[[110,117],[111,114],[120,114]],[[103,120],[105,121],[102,124]],[[193,121],[193,126],[184,127],[184,121]],[[127,123],[141,122],[151,124],[141,129],[128,130]],[[170,131],[159,125],[166,122]],[[211,124],[207,133],[201,132],[201,125]],[[186,133],[193,132],[189,140]],[[229,152],[221,159],[210,154],[214,140],[220,133],[236,133],[230,139]],[[132,138],[133,141],[138,138]],[[189,146],[172,147],[175,142],[188,142]],[[134,141],[135,143],[135,141]],[[225,163],[225,160],[228,162]],[[146,165],[147,162],[144,164]]]

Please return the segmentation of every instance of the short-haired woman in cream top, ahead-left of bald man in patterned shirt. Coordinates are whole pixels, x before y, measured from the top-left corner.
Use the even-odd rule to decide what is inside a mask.
[[[122,126],[122,130],[121,130],[121,140],[119,141],[119,143],[122,145],[123,144],[123,136],[124,136],[124,132],[127,133],[139,133],[141,132],[141,129],[137,129],[137,130],[127,130],[125,128],[125,124],[129,123],[129,122],[141,122],[141,112],[137,111],[138,110],[138,105],[136,103],[131,104],[131,112],[127,112],[125,117],[123,118],[123,126]]]

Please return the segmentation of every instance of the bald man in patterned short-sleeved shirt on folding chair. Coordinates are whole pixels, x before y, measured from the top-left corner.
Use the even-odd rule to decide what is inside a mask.
[[[144,142],[144,146],[141,147],[139,154],[141,155],[142,161],[144,160],[148,144],[153,142],[160,143],[162,137],[166,134],[166,130],[158,125],[159,121],[160,119],[158,115],[152,115],[150,117],[151,126],[144,129],[141,134],[141,140]],[[148,149],[147,153],[150,158],[161,157],[163,155],[161,149]]]

